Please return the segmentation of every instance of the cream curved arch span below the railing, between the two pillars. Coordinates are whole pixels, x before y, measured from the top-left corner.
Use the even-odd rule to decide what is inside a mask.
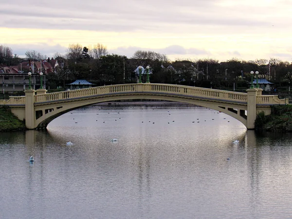
[[[210,108],[213,110],[221,111],[230,115],[240,121],[244,126],[247,126],[247,104],[223,102],[214,99],[203,99],[200,97],[179,96],[174,94],[153,94],[153,93],[131,93],[131,94],[106,94],[104,96],[91,96],[88,98],[69,99],[65,101],[48,101],[40,104],[35,104],[36,128],[46,128],[48,124],[60,115],[75,110],[84,106],[92,104],[110,102],[116,100],[129,100],[129,99],[151,99],[151,100],[165,100],[181,103],[193,104],[201,107]]]

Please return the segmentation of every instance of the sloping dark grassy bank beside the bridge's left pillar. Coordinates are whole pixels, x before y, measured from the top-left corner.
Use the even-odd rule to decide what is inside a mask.
[[[9,108],[0,107],[0,131],[25,130],[25,124],[20,121]]]

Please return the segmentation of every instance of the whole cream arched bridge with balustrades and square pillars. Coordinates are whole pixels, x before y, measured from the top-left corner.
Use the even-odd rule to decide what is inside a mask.
[[[0,101],[29,129],[46,128],[56,117],[91,104],[114,100],[154,99],[194,104],[226,113],[248,129],[255,128],[256,113],[271,113],[271,106],[284,105],[285,99],[276,95],[261,95],[261,89],[247,93],[221,91],[170,84],[123,84],[73,91],[46,93],[46,90],[26,90],[25,96],[12,96]]]

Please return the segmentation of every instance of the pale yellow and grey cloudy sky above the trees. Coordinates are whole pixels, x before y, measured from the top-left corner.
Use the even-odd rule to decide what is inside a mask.
[[[65,54],[101,43],[178,58],[292,62],[292,0],[0,0],[0,44]]]

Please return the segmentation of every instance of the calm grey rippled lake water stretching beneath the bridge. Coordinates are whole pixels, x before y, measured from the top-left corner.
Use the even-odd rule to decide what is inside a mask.
[[[292,135],[206,108],[94,105],[0,155],[1,219],[292,218]]]

